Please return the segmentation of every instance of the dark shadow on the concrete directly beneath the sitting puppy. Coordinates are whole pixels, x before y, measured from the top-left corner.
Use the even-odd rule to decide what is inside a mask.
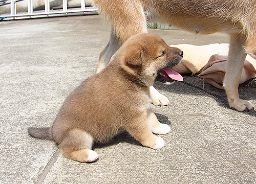
[[[157,119],[158,119],[159,122],[170,125],[170,121],[168,120],[167,116],[165,116],[163,114],[159,114],[159,113],[155,113],[155,114],[156,114]],[[115,137],[113,137],[113,139],[111,139],[106,144],[94,143],[92,149],[94,150],[95,148],[103,148],[103,147],[113,146],[113,145],[117,145],[119,143],[130,143],[130,144],[133,144],[133,145],[142,146],[127,131],[123,131],[123,132],[119,133],[118,135],[116,135]]]

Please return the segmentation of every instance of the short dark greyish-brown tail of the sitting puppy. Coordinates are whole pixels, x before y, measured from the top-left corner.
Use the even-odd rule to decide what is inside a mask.
[[[44,127],[44,128],[29,127],[28,132],[32,137],[42,139],[42,140],[52,141],[50,127]]]

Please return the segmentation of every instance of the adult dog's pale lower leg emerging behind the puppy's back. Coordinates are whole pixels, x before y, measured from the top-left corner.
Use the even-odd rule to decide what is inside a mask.
[[[105,49],[100,53],[96,73],[99,73],[103,70],[103,68],[106,65],[108,65],[111,57],[121,47],[121,44],[121,40],[116,36],[114,29],[112,29],[109,43],[106,45]]]

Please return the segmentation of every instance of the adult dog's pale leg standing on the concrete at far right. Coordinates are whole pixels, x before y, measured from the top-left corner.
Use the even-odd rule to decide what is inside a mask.
[[[230,107],[239,111],[253,109],[253,105],[246,100],[241,100],[238,94],[238,86],[244,60],[246,57],[243,45],[245,38],[240,34],[230,35],[230,46],[226,66],[226,75],[223,81],[223,87],[227,94],[227,100]]]

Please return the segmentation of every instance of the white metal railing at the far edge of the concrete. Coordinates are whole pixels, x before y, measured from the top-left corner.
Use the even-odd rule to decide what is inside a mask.
[[[68,16],[68,15],[84,15],[84,14],[98,14],[98,9],[93,7],[86,7],[85,0],[81,0],[81,7],[68,10],[67,0],[63,0],[62,10],[50,10],[50,0],[45,0],[45,11],[33,12],[33,0],[28,1],[28,11],[17,13],[18,1],[23,0],[0,0],[0,6],[10,4],[10,14],[1,14],[0,20],[9,19],[25,19],[25,18],[41,18],[41,17],[54,17],[54,16]]]

